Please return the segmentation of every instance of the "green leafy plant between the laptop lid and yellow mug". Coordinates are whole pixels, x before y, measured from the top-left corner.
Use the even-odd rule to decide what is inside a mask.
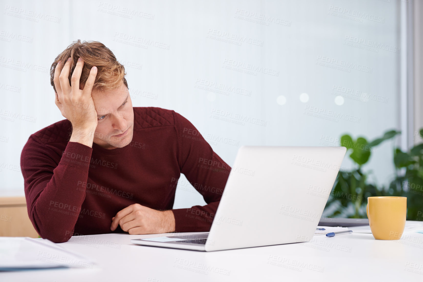
[[[368,142],[364,137],[353,140],[348,134],[341,137],[341,146],[347,148],[347,153],[350,153],[349,157],[356,164],[356,168],[349,172],[338,172],[334,187],[327,200],[325,216],[366,218],[367,197],[389,195],[390,190],[386,191],[385,187],[378,189],[373,184],[368,183],[371,172],[364,173],[362,166],[370,159],[374,147],[392,139],[397,134],[400,134],[400,131],[390,130],[371,142]]]

